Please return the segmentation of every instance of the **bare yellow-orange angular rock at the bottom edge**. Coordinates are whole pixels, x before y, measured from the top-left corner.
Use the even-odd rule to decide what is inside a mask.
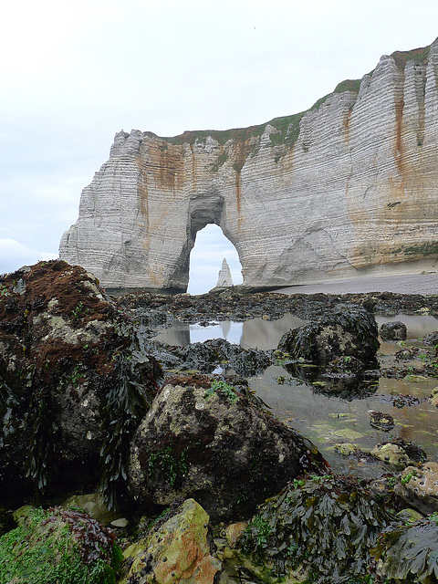
[[[193,499],[151,534],[125,549],[119,584],[213,584],[221,562],[208,534],[209,516]]]

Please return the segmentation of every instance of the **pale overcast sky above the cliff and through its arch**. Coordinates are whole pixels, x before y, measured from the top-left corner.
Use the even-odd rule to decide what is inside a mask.
[[[57,256],[117,131],[174,136],[297,113],[339,81],[361,78],[381,55],[437,36],[437,0],[7,3],[0,273]],[[214,286],[224,256],[232,263],[213,228],[203,250],[200,237],[192,264],[207,252],[217,266],[198,266],[212,280],[194,286],[201,276],[191,277],[193,293]]]

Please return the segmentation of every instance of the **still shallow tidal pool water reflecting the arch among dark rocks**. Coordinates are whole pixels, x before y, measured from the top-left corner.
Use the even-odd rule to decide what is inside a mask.
[[[401,320],[408,329],[405,346],[421,345],[424,335],[438,330],[438,319],[428,315],[398,315],[376,317],[383,322]],[[187,345],[207,339],[226,339],[244,349],[276,349],[279,339],[289,328],[304,324],[304,320],[287,314],[277,320],[254,318],[245,322],[210,322],[178,324],[166,328],[155,338],[171,345]],[[381,343],[381,357],[391,359],[401,346],[395,342]],[[422,362],[415,362],[421,366]],[[281,366],[271,366],[263,373],[249,378],[251,388],[266,402],[282,421],[312,440],[336,471],[370,477],[387,469],[384,464],[351,460],[334,450],[336,443],[354,443],[364,450],[395,437],[411,440],[422,446],[428,456],[438,462],[438,408],[428,400],[438,380],[414,377],[395,380],[381,377],[370,392],[361,399],[345,400],[328,396],[310,382],[302,381]],[[397,396],[418,398],[415,405],[403,405]],[[412,400],[414,401],[414,400]],[[370,411],[391,414],[395,426],[390,433],[370,426]]]

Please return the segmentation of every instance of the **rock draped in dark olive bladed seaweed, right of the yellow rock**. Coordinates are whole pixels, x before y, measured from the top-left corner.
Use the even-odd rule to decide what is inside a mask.
[[[264,566],[264,581],[305,570],[291,581],[339,584],[367,574],[370,547],[392,520],[352,477],[313,476],[260,506],[239,546],[255,575]]]

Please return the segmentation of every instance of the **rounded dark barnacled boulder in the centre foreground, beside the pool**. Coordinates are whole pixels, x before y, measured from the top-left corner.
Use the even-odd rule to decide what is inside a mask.
[[[313,444],[239,389],[206,376],[163,387],[131,445],[138,503],[193,497],[214,520],[242,517],[297,474],[326,468]]]

